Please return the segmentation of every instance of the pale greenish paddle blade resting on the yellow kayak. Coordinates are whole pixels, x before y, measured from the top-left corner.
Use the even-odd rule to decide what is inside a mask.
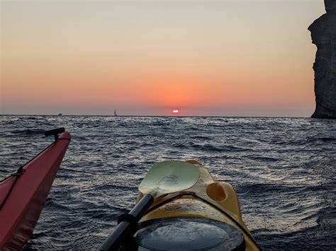
[[[163,194],[189,189],[196,184],[199,175],[196,165],[177,160],[162,161],[150,168],[139,190],[142,194],[152,194],[156,199]]]

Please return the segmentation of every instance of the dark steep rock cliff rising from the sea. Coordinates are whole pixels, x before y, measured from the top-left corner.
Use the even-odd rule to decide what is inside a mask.
[[[315,71],[316,108],[312,117],[336,118],[336,0],[325,0],[325,11],[308,28],[318,47]]]

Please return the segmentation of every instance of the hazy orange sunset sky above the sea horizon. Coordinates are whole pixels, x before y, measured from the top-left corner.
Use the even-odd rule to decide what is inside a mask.
[[[0,1],[0,114],[310,117],[323,0]]]

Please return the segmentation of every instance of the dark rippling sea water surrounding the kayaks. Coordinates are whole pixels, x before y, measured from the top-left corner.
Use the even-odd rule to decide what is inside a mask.
[[[335,250],[336,121],[309,118],[0,116],[0,178],[72,142],[27,249],[99,247],[132,208],[147,170],[194,158],[237,190],[265,250]]]

